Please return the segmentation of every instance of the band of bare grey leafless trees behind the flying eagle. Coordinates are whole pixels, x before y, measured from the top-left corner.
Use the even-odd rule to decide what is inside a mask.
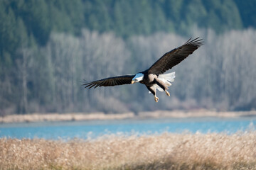
[[[1,98],[6,107],[2,111],[120,113],[184,108],[255,109],[256,31],[216,35],[212,30],[201,30],[193,33],[193,37],[196,35],[204,37],[206,45],[174,67],[176,81],[169,90],[171,97],[158,92],[160,101],[155,103],[141,84],[88,91],[82,88],[81,81],[135,74],[187,38],[156,33],[124,41],[112,33],[89,30],[83,30],[80,37],[52,34],[45,47],[19,50],[18,78],[14,84],[1,82],[1,94],[9,95],[10,99],[11,95],[16,97],[18,108],[16,103],[8,103],[9,98]]]

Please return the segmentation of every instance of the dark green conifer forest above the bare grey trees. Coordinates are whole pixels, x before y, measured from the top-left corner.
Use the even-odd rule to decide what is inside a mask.
[[[45,45],[52,32],[80,35],[82,28],[124,38],[158,31],[188,34],[194,24],[218,33],[255,28],[255,7],[255,1],[242,0],[1,0],[1,55],[24,40]]]

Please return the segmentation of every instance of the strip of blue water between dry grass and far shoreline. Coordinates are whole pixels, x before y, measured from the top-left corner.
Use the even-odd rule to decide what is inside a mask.
[[[106,134],[151,135],[162,132],[225,132],[252,130],[256,118],[168,118],[149,120],[93,120],[78,122],[0,124],[0,137],[50,140],[95,138]]]

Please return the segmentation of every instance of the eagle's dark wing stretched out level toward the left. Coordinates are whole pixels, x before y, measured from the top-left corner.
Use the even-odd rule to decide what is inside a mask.
[[[88,81],[85,84],[82,84],[82,86],[85,86],[85,88],[91,89],[92,87],[96,88],[98,86],[117,86],[117,85],[123,85],[123,84],[131,84],[132,78],[135,75],[124,75],[119,77],[108,77],[106,79],[100,79],[96,81]]]

